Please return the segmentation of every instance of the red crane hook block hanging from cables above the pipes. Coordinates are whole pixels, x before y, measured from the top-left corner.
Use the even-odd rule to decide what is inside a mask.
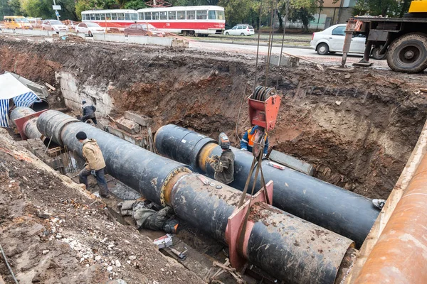
[[[251,124],[261,126],[266,131],[274,129],[282,98],[275,94],[262,102],[251,97],[248,98]]]

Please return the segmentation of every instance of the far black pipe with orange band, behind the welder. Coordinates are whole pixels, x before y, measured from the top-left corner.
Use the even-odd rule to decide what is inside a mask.
[[[213,139],[169,124],[157,131],[154,143],[160,155],[191,165],[196,172],[214,177],[214,169],[206,163],[206,158],[221,155],[221,147]],[[230,186],[243,190],[251,170],[253,155],[248,151],[231,149],[236,160],[234,181]],[[273,206],[346,236],[356,242],[357,248],[362,246],[379,214],[371,200],[290,168],[273,168],[268,165],[267,159],[262,163],[265,182],[274,182]],[[249,190],[252,188],[254,175],[255,173]],[[258,175],[255,190],[260,189],[260,180]]]

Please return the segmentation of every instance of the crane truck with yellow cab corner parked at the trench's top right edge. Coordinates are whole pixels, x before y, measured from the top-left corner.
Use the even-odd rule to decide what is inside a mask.
[[[367,37],[364,59],[369,63],[371,48],[386,54],[391,70],[406,73],[427,68],[427,0],[412,1],[403,18],[357,16],[354,32]],[[353,20],[353,21],[354,21]]]

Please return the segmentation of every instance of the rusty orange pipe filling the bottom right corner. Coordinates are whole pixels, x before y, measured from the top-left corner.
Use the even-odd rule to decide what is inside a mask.
[[[427,283],[427,155],[354,283]]]

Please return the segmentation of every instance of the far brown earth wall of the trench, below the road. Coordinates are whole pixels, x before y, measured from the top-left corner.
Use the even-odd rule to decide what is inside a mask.
[[[4,70],[56,86],[66,73],[73,77],[76,100],[95,96],[96,88],[101,99],[107,94],[105,114],[139,111],[152,116],[156,127],[178,124],[212,137],[226,131],[238,146],[236,121],[243,97],[253,88],[255,58],[2,37],[0,73]],[[258,82],[265,82],[263,65],[257,74]],[[272,67],[268,85],[283,93],[283,104],[270,146],[312,163],[322,180],[386,198],[427,117],[427,94],[419,92],[424,81],[425,75],[384,70]],[[248,125],[243,103],[239,136]]]

